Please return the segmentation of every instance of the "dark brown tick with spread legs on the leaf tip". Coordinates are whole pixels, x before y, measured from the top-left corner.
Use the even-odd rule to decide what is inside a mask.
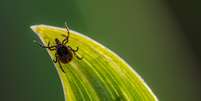
[[[65,73],[64,69],[61,66],[61,63],[67,64],[69,63],[73,57],[75,56],[77,59],[82,60],[83,57],[79,57],[76,52],[79,50],[79,47],[77,49],[73,49],[70,46],[67,45],[69,41],[70,32],[68,29],[67,24],[65,23],[65,28],[67,30],[67,36],[65,36],[65,39],[62,41],[59,41],[59,39],[55,38],[55,45],[50,46],[50,42],[48,42],[47,46],[42,45],[39,42],[36,42],[40,47],[47,48],[50,51],[56,51],[55,52],[55,60],[53,60],[54,63],[59,63],[59,66],[61,70]]]

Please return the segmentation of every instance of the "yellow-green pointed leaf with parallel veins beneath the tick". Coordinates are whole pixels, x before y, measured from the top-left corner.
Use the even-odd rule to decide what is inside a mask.
[[[67,30],[48,25],[34,25],[44,45],[55,45],[67,35]],[[70,30],[68,46],[76,49],[82,60],[73,57],[67,64],[58,63],[56,70],[63,85],[66,101],[157,101],[156,96],[143,79],[117,54],[100,43]],[[52,59],[55,51],[48,50]]]

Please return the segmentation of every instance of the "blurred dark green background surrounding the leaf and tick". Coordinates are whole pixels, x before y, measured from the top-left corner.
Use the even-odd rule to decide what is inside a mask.
[[[64,26],[124,58],[160,101],[201,101],[199,1],[0,0],[0,101],[64,101],[34,24]]]

